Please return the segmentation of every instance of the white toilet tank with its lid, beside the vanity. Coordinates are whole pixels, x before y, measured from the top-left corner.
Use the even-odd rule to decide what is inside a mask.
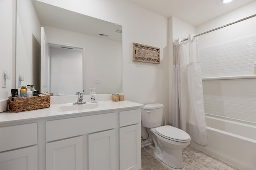
[[[144,127],[158,127],[162,124],[163,104],[146,104],[141,107],[141,123]]]

